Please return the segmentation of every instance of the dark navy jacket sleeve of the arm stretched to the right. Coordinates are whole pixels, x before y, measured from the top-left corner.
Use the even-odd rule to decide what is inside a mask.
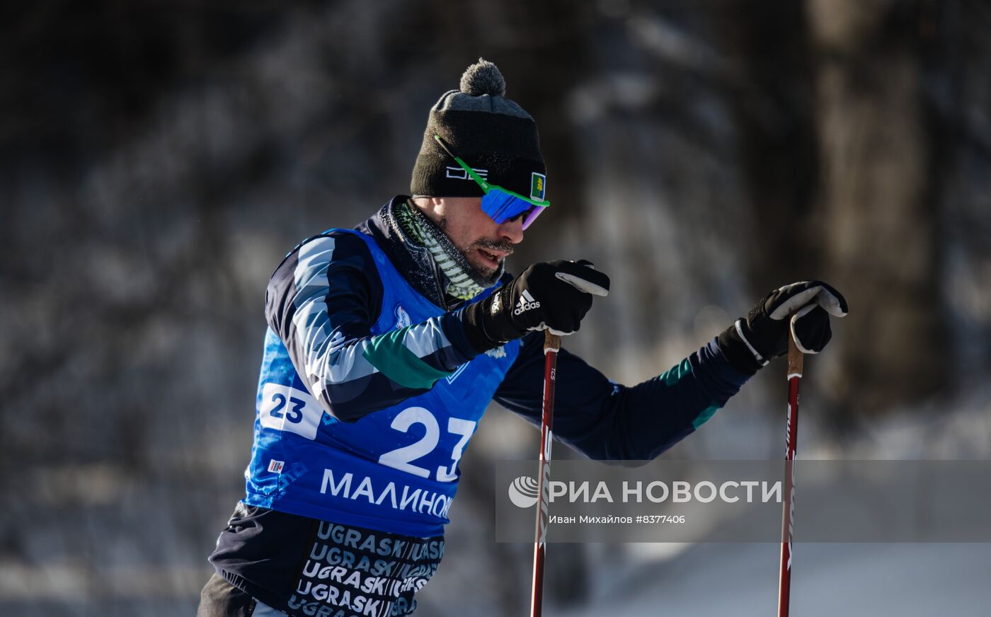
[[[543,333],[527,335],[495,401],[539,426]],[[554,435],[591,459],[649,461],[693,433],[749,378],[732,368],[716,341],[632,387],[606,378],[562,349],[554,393]]]

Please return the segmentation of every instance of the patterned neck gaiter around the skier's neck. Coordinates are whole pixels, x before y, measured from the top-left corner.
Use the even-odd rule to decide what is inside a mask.
[[[459,300],[470,300],[502,276],[503,266],[492,277],[480,274],[433,221],[408,201],[393,208],[395,220],[410,240],[423,246],[447,279],[445,291]]]

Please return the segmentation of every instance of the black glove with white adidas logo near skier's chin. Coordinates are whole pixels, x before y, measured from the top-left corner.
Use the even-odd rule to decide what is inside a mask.
[[[465,334],[479,354],[530,330],[568,335],[578,331],[592,296],[608,291],[609,277],[591,261],[534,263],[485,300],[465,307]]]

